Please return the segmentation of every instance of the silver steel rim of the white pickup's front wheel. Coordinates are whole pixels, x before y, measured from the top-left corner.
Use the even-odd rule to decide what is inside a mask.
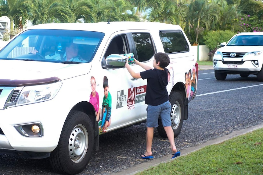
[[[79,163],[84,159],[88,149],[88,132],[82,124],[78,124],[71,131],[68,149],[74,163]]]

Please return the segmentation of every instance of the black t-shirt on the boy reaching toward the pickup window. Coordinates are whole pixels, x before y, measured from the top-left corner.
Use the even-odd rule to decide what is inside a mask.
[[[152,106],[160,105],[168,101],[168,85],[167,70],[150,69],[140,72],[142,79],[147,79],[147,88],[145,95],[145,103]]]

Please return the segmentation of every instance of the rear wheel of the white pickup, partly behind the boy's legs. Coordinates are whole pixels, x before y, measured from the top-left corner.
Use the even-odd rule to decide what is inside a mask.
[[[177,137],[182,129],[183,120],[184,120],[183,96],[179,92],[171,92],[169,96],[169,101],[172,105],[171,124],[174,131],[174,135],[175,137]],[[158,123],[159,126],[157,127],[157,131],[159,135],[161,137],[167,138],[161,119],[159,119]]]

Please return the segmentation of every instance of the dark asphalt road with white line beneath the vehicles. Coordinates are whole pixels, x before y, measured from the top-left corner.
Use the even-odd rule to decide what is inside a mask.
[[[241,78],[227,75],[225,81],[214,78],[214,70],[201,70],[197,95],[189,103],[188,120],[175,138],[177,148],[184,149],[222,135],[263,122],[263,82],[255,75]],[[145,124],[111,132],[100,137],[99,151],[94,152],[87,168],[79,173],[110,175],[145,161]],[[168,139],[153,138],[155,158],[170,154]],[[24,159],[0,154],[0,175],[55,175],[48,159]]]

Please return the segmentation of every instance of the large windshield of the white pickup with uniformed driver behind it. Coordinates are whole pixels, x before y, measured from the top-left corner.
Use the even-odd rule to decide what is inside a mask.
[[[0,59],[91,62],[104,33],[79,30],[26,30],[0,51]]]

